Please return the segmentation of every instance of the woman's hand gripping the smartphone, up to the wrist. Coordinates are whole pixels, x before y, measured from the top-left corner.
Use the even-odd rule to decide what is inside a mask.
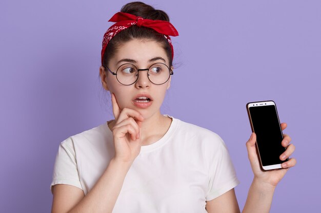
[[[282,130],[287,128],[286,123],[281,124]],[[290,157],[292,153],[295,150],[295,147],[293,144],[290,144],[291,137],[287,134],[283,135],[284,138],[282,140],[282,146],[287,147],[285,152],[280,155],[280,160],[285,160],[286,158]],[[287,173],[289,168],[294,167],[296,164],[295,158],[290,158],[288,161],[282,163],[283,169],[276,169],[276,170],[269,170],[269,171],[263,171],[260,168],[260,163],[258,160],[258,156],[256,154],[256,148],[255,148],[255,141],[256,141],[256,135],[255,133],[251,134],[250,139],[246,143],[246,147],[248,150],[248,156],[251,163],[251,167],[254,173],[254,179],[256,181],[259,181],[264,184],[270,184],[271,186],[275,187],[277,183],[282,180],[284,175]]]

